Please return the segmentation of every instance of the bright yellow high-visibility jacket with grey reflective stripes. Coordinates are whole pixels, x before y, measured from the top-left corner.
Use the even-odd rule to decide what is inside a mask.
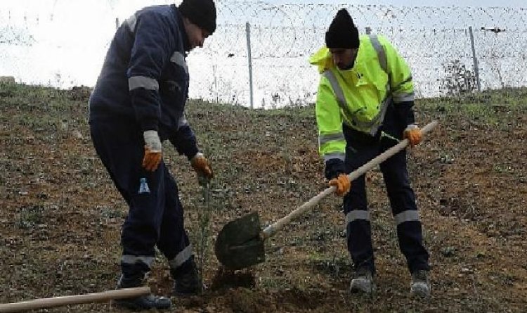
[[[360,36],[351,70],[339,70],[326,47],[313,54],[309,62],[320,72],[315,113],[319,152],[326,161],[332,158],[344,161],[343,122],[374,136],[392,100],[395,106],[414,101],[410,68],[382,36]]]

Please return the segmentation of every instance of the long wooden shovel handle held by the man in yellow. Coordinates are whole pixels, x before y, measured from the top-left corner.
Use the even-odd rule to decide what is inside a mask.
[[[438,125],[437,121],[433,121],[430,124],[427,124],[427,126],[423,127],[421,129],[422,134],[427,134],[432,129],[434,129]],[[357,170],[351,172],[348,177],[350,181],[353,181],[354,179],[357,179],[361,175],[365,174],[368,170],[371,170],[373,167],[376,167],[377,165],[381,164],[385,160],[391,158],[392,155],[398,153],[399,151],[403,150],[406,146],[408,146],[408,139],[404,139],[400,143],[397,143],[396,146],[393,146],[389,148],[388,150],[384,151],[383,153],[377,155],[377,158],[374,158],[370,162],[367,162],[365,165],[359,167]],[[284,228],[285,225],[289,224],[293,219],[296,219],[300,215],[304,214],[306,210],[310,209],[311,207],[318,204],[318,202],[324,198],[325,196],[329,195],[330,193],[334,193],[335,186],[331,186],[325,191],[319,193],[317,196],[314,196],[308,202],[304,203],[300,207],[298,207],[293,212],[289,213],[289,215],[286,215],[285,217],[282,217],[281,219],[278,219],[274,224],[271,224],[267,226],[263,231],[261,231],[260,236],[261,239],[264,240],[266,238],[269,238],[276,234],[277,231]]]

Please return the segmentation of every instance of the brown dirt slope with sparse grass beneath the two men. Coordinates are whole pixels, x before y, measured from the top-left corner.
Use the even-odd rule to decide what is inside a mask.
[[[127,207],[98,160],[86,122],[89,90],[0,86],[0,302],[115,288]],[[439,120],[408,153],[431,255],[432,297],[410,298],[410,275],[379,170],[367,174],[377,265],[373,298],[348,292],[341,201],[320,205],[266,241],[266,262],[228,272],[213,245],[226,222],[275,222],[325,188],[313,107],[254,110],[195,101],[188,120],[214,164],[203,200],[188,161],[167,143],[204,293],[171,312],[526,312],[527,90],[417,102]],[[148,286],[168,295],[158,255]],[[108,303],[41,312],[121,312]],[[124,311],[123,311],[124,312]]]

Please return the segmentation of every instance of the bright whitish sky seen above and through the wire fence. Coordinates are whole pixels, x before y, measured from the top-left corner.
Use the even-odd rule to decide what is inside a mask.
[[[377,27],[375,31],[386,31],[390,34],[392,25],[396,27],[402,27],[405,23],[410,23],[412,27],[424,27],[427,25],[429,28],[437,28],[442,30],[446,27],[448,30],[457,30],[465,29],[468,26],[474,26],[477,30],[480,27],[504,27],[509,30],[516,30],[516,32],[511,32],[512,38],[514,39],[513,44],[509,44],[508,41],[496,41],[497,44],[490,47],[490,50],[487,46],[479,46],[479,51],[481,53],[503,53],[507,49],[508,53],[513,56],[519,56],[516,60],[519,60],[519,63],[515,65],[510,65],[506,63],[503,65],[503,71],[506,70],[505,67],[512,68],[511,71],[513,75],[523,75],[521,79],[516,79],[515,77],[511,78],[513,82],[523,81],[524,72],[518,71],[518,68],[525,68],[523,66],[524,62],[524,51],[527,51],[525,47],[525,40],[523,39],[523,34],[525,34],[525,29],[527,25],[527,0],[214,0],[220,7],[223,8],[223,19],[228,18],[230,13],[237,14],[236,18],[238,22],[244,23],[246,20],[245,16],[240,16],[244,14],[242,11],[245,10],[248,15],[252,13],[258,13],[256,17],[261,17],[265,14],[275,14],[273,18],[276,23],[281,23],[285,21],[289,23],[289,16],[292,18],[297,18],[298,23],[305,23],[306,28],[312,27],[318,23],[318,27],[327,27],[330,24],[332,16],[337,11],[337,8],[341,6],[350,7],[353,5],[384,5],[384,6],[394,6],[396,8],[410,8],[410,9],[401,9],[400,11],[392,15],[387,14],[384,8],[370,8],[368,10],[359,10],[363,12],[363,15],[358,15],[356,21],[358,25],[371,25]],[[235,4],[235,1],[245,1],[245,5],[241,6],[242,10],[233,9],[238,8],[238,4]],[[131,13],[136,9],[143,6],[149,6],[152,4],[180,4],[181,0],[0,0],[0,75],[13,75],[15,79],[19,82],[28,82],[31,84],[49,84],[53,87],[60,88],[69,88],[74,85],[79,86],[84,84],[85,86],[93,86],[100,66],[104,60],[104,55],[106,49],[108,49],[108,42],[112,38],[115,27],[116,20],[122,22],[125,18],[128,18]],[[306,14],[302,11],[295,11],[296,8],[284,8],[283,10],[268,10],[263,4],[306,4],[308,5],[308,10]],[[328,4],[329,6],[318,6],[318,4]],[[315,7],[315,8],[312,8]],[[436,10],[435,8],[431,9],[412,9],[414,7],[438,7],[443,6],[447,8]],[[471,7],[469,10],[458,9]],[[484,7],[483,10],[478,8]],[[486,7],[501,7],[503,9],[485,9]],[[474,8],[474,9],[472,9]],[[289,13],[295,12],[295,14],[289,15]],[[327,12],[330,11],[330,12]],[[375,25],[372,25],[372,15],[375,15],[376,12],[386,13],[382,15],[382,18],[375,20]],[[278,14],[280,13],[280,14]],[[306,20],[303,20],[304,15],[306,15]],[[399,18],[401,17],[401,18]],[[252,15],[248,16],[250,22],[257,23],[255,18]],[[370,20],[367,20],[370,18]],[[370,23],[370,24],[368,24]],[[290,24],[290,23],[289,23]],[[299,24],[304,25],[304,24]],[[384,27],[384,28],[383,28]],[[245,29],[245,27],[243,27]],[[240,28],[236,28],[240,30]],[[320,29],[319,29],[320,32]],[[226,50],[231,51],[232,49],[238,49],[237,53],[243,55],[246,50],[245,46],[245,33],[238,34],[238,32],[228,32],[232,34],[232,38],[226,37],[227,32],[223,32],[223,37],[218,37],[216,41],[210,41],[214,51],[214,56],[223,56],[223,52]],[[283,34],[283,37],[280,37],[284,40],[295,39],[297,40],[298,34]],[[301,42],[300,44],[295,44],[295,46],[300,46],[300,48],[291,50],[287,48],[287,53],[292,53],[292,55],[307,55],[311,51],[318,48],[318,44],[323,41],[323,36],[313,39],[309,37],[309,34],[313,32],[305,32],[304,36],[306,38],[302,39],[299,35],[298,40],[308,40],[306,42]],[[417,41],[422,42],[423,44],[428,44],[429,39],[424,39],[420,35],[417,36],[417,32],[410,32],[412,37],[409,38],[416,39]],[[435,34],[435,32],[434,32]],[[438,37],[440,40],[445,40],[447,34],[450,32],[440,32]],[[482,32],[477,32],[476,35],[480,37],[483,36]],[[485,33],[486,35],[488,34]],[[509,32],[507,32],[509,34]],[[514,37],[514,34],[517,34]],[[271,49],[274,51],[275,48],[271,48],[272,44],[275,44],[275,41],[270,40],[266,37],[265,33],[256,32],[254,35],[254,45],[253,53],[256,53],[258,56],[258,51],[266,51]],[[417,37],[416,37],[417,36]],[[217,36],[216,36],[217,37]],[[276,37],[276,36],[275,36]],[[501,36],[502,37],[502,36]],[[500,37],[500,38],[501,38]],[[273,37],[274,38],[274,37]],[[448,37],[450,38],[450,37]],[[452,56],[455,51],[462,51],[460,54],[464,55],[467,53],[464,49],[467,46],[466,33],[457,33],[455,37],[457,46],[461,46],[460,49],[454,50],[452,46],[449,46],[445,49],[445,45],[434,44],[436,40],[432,40],[431,43],[434,44],[426,46],[424,49],[429,49],[430,51],[436,53],[436,50],[448,54],[447,57]],[[507,38],[507,37],[505,37]],[[215,38],[214,38],[215,39]],[[476,39],[477,36],[476,36]],[[227,40],[227,41],[223,41]],[[230,40],[230,41],[229,41]],[[448,39],[450,40],[450,39]],[[287,42],[289,42],[287,41]],[[296,42],[296,41],[295,41]],[[11,44],[10,44],[11,43]],[[266,46],[266,44],[271,44],[271,46]],[[408,44],[403,41],[399,41],[398,44],[405,49],[405,53],[412,54],[414,53],[412,49],[422,49],[416,47],[415,44]],[[450,41],[448,41],[450,44]],[[476,43],[480,44],[481,43]],[[514,45],[515,44],[515,45]],[[259,47],[257,49],[256,47]],[[499,49],[495,48],[499,47]],[[216,49],[216,50],[214,50]],[[291,52],[293,51],[293,52]],[[420,51],[420,50],[419,50]],[[452,52],[454,51],[454,52]],[[487,51],[487,52],[485,52]],[[488,52],[490,51],[490,52]],[[205,51],[199,56],[206,56]],[[221,54],[223,53],[223,54]],[[262,53],[262,52],[261,52]],[[274,52],[276,55],[276,51]],[[295,54],[297,53],[297,54]],[[468,52],[470,53],[470,51]],[[490,53],[490,54],[489,54]],[[523,53],[523,54],[522,54]],[[263,54],[265,55],[265,54]],[[522,57],[520,57],[522,56]],[[79,59],[82,62],[79,63]],[[278,58],[273,58],[273,67],[274,69],[281,69],[275,66]],[[435,59],[435,58],[434,58]],[[202,60],[195,58],[196,61],[193,64],[201,64]],[[288,59],[285,59],[288,60]],[[431,58],[425,58],[424,61],[428,62]],[[245,61],[245,60],[244,60]],[[208,61],[205,61],[204,64]],[[216,61],[214,61],[216,62]],[[289,62],[289,60],[287,61]],[[305,58],[301,59],[301,64],[306,64]],[[508,62],[508,61],[507,61]],[[226,63],[230,66],[230,63]],[[246,62],[238,68],[238,72],[233,72],[233,68],[228,68],[224,72],[228,73],[227,78],[221,82],[229,82],[229,75],[235,73],[235,77],[240,75],[245,75],[247,70],[245,70]],[[430,68],[440,68],[441,65],[431,66],[429,63],[426,63]],[[471,63],[469,63],[471,64]],[[482,63],[485,65],[485,63]],[[191,64],[192,65],[192,64]],[[237,65],[238,66],[238,65]],[[415,61],[415,66],[419,66],[419,62]],[[491,59],[491,62],[485,65],[487,67],[495,67],[495,59]],[[514,68],[516,67],[516,68]],[[207,67],[203,70],[199,68],[196,70],[194,68],[193,72],[196,74],[202,74],[202,77],[194,79],[194,82],[208,82],[210,77],[216,79],[216,72],[211,73],[210,67]],[[221,70],[218,70],[221,72]],[[255,71],[256,72],[256,71]],[[280,75],[283,74],[283,70],[280,70]],[[241,73],[241,74],[240,74]],[[265,73],[268,76],[267,73]],[[316,74],[316,73],[315,73]],[[278,74],[277,74],[278,75]],[[278,77],[278,76],[277,76]],[[416,76],[417,77],[417,76]],[[430,77],[430,76],[429,76]],[[430,79],[427,77],[426,79]],[[512,77],[512,76],[510,76]],[[509,78],[510,78],[509,77]],[[209,80],[207,80],[209,79]],[[238,78],[236,78],[238,79]],[[255,81],[258,79],[256,77]],[[263,79],[260,77],[259,79]],[[306,76],[306,79],[311,80]],[[426,81],[424,79],[424,81]],[[265,79],[263,79],[265,80]],[[273,79],[272,83],[268,83],[266,86],[273,87],[261,88],[262,92],[264,90],[275,90],[280,89],[280,84],[283,84],[287,80],[285,79]],[[489,81],[497,81],[495,78],[489,78]],[[211,83],[212,84],[212,83]],[[245,86],[245,81],[240,82],[240,85]],[[436,82],[433,82],[433,85],[436,85]],[[197,85],[196,85],[197,86]],[[197,94],[199,89],[198,87],[193,86],[193,91]],[[212,85],[202,84],[204,92],[207,93],[212,90],[210,87]],[[216,84],[214,84],[216,86]],[[223,85],[222,85],[223,86]],[[233,85],[234,86],[234,85]],[[221,87],[226,90],[231,90],[235,87],[231,85],[225,85]],[[216,87],[214,87],[216,88]],[[245,88],[245,87],[244,87]],[[314,89],[308,87],[306,90]],[[234,90],[234,89],[233,89]],[[246,89],[240,89],[242,94],[245,93]],[[299,89],[299,92],[304,89]],[[271,91],[269,91],[271,92]],[[195,95],[196,95],[195,94]]]

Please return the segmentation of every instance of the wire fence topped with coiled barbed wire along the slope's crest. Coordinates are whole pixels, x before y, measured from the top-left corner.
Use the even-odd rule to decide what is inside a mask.
[[[116,24],[152,1],[47,4],[32,13],[28,7],[1,9],[0,75],[63,88],[93,86]],[[418,97],[527,86],[527,8],[228,0],[216,6],[216,33],[188,57],[192,98],[249,106],[252,91],[256,108],[313,102],[318,73],[308,57],[323,46],[339,8],[349,10],[361,32],[391,40],[412,68]]]

